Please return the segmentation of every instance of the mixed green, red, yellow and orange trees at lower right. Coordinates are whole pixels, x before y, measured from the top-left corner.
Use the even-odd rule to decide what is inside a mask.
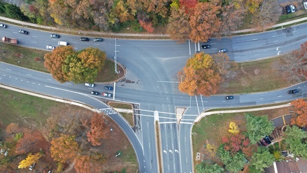
[[[283,131],[282,138],[285,140],[286,149],[301,158],[307,159],[307,132],[303,127],[307,127],[307,102],[298,99],[291,102],[292,119],[286,131]],[[223,136],[219,146],[214,143],[205,145],[207,151],[212,156],[217,156],[221,163],[212,163],[212,161],[203,161],[196,165],[197,173],[216,172],[222,173],[225,170],[229,172],[240,172],[247,164],[246,158],[250,158],[248,169],[251,173],[264,172],[264,168],[270,167],[274,161],[282,161],[281,151],[275,149],[269,150],[268,147],[256,145],[264,136],[269,136],[275,127],[268,116],[254,116],[245,113],[246,125],[236,125],[230,122],[230,133]],[[241,131],[240,129],[244,129]],[[222,167],[225,165],[225,167]],[[225,168],[225,169],[224,169]]]

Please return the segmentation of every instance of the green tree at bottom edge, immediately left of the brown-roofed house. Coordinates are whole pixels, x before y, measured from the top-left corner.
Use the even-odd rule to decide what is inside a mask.
[[[275,161],[274,156],[270,154],[267,147],[258,147],[257,152],[252,155],[251,165],[258,172],[264,172],[265,167],[270,167]]]

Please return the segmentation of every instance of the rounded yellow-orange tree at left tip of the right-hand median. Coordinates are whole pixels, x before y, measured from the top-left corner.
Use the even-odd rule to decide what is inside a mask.
[[[178,89],[181,92],[210,96],[216,93],[223,78],[219,75],[212,57],[201,52],[187,60],[185,67],[178,72],[178,80]]]

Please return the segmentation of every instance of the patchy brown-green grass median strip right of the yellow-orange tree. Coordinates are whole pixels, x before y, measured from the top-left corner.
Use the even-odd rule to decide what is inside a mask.
[[[273,68],[281,57],[283,56],[240,63],[236,78],[221,83],[217,93],[255,93],[290,86],[291,84],[283,78],[283,75]]]

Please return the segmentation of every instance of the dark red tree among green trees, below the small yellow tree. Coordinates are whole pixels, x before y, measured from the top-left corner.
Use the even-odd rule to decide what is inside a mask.
[[[222,143],[224,144],[225,151],[230,151],[232,154],[236,152],[244,151],[250,145],[250,140],[243,134],[237,134],[227,138],[222,137]]]

